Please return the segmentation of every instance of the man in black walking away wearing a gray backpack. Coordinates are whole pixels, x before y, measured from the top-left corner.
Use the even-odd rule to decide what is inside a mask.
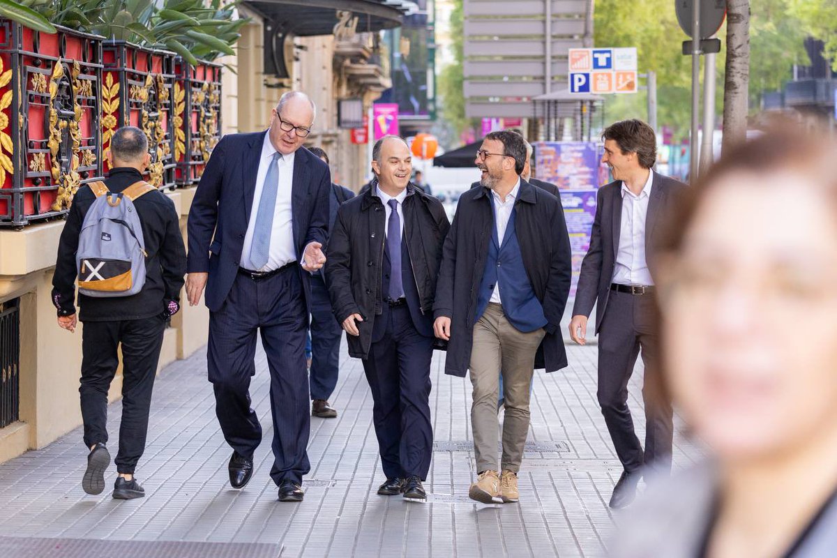
[[[151,390],[167,320],[180,310],[186,250],[174,203],[142,179],[150,161],[146,135],[120,128],[110,141],[110,175],[79,188],[55,264],[52,298],[58,324],[82,332],[81,415],[90,448],[82,488],[105,489],[110,465],[107,394],[122,346],[122,422],[116,499],[145,495],[134,477],[146,444]],[[74,282],[79,280],[76,318]]]

